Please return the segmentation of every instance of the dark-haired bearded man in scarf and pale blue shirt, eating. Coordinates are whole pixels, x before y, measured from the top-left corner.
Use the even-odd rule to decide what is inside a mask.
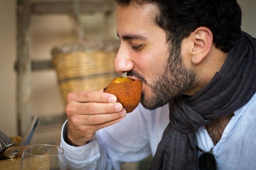
[[[256,40],[236,0],[116,0],[118,73],[143,83],[126,115],[116,96],[68,96],[61,146],[71,169],[256,167]],[[202,153],[204,152],[204,153]]]

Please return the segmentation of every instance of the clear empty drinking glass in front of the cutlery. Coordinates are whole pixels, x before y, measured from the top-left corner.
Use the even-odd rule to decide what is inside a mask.
[[[48,144],[31,145],[24,149],[20,170],[67,170],[64,150]]]

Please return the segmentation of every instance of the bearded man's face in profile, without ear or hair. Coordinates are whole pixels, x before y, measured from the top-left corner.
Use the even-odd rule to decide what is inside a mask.
[[[166,32],[155,21],[156,4],[117,7],[117,34],[121,45],[115,60],[118,73],[143,82],[141,103],[147,109],[167,104],[185,94],[196,74],[187,69],[181,57],[181,45],[166,43]]]

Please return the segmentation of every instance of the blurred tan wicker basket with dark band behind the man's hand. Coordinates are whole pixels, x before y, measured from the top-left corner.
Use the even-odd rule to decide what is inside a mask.
[[[113,43],[112,43],[113,44]],[[113,78],[115,73],[114,60],[118,42],[111,45],[64,45],[52,50],[53,66],[57,71],[58,83],[64,104],[67,95],[76,90],[100,91]]]

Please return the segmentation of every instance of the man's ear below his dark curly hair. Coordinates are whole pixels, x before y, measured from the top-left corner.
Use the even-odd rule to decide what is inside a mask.
[[[212,31],[205,26],[198,27],[190,34],[193,41],[191,61],[194,64],[200,63],[209,53],[212,47]]]

